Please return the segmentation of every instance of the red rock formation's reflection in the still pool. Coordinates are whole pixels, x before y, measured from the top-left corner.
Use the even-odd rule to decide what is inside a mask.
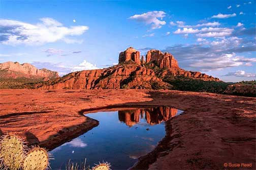
[[[140,118],[145,118],[150,125],[159,124],[174,117],[178,113],[175,108],[161,106],[146,109],[131,109],[119,110],[118,118],[120,121],[125,122],[126,125],[133,126],[140,121]]]

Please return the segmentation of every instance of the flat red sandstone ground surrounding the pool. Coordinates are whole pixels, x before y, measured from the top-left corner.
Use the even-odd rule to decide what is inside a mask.
[[[210,93],[150,90],[1,90],[0,133],[15,132],[48,149],[99,122],[95,109],[167,105],[184,110],[166,123],[166,137],[134,169],[255,169],[256,100]],[[1,132],[2,131],[2,132]]]

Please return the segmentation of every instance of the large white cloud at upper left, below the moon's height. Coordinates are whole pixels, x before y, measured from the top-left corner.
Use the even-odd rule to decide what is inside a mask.
[[[5,45],[42,45],[57,40],[77,43],[77,40],[69,36],[81,35],[89,29],[83,25],[65,27],[52,18],[41,18],[37,24],[0,19],[0,28],[0,43]]]

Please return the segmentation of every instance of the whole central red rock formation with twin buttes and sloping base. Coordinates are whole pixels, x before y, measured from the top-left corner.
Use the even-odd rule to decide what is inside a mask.
[[[106,69],[72,72],[46,82],[28,84],[38,89],[171,89],[163,79],[183,76],[201,80],[219,81],[200,72],[185,71],[169,53],[150,50],[144,57],[130,47],[119,54],[119,64]]]

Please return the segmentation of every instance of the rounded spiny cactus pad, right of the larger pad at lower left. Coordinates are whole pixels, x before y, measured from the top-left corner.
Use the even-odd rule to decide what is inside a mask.
[[[49,154],[48,152],[40,147],[35,147],[31,149],[24,161],[24,170],[45,170],[49,166]]]

